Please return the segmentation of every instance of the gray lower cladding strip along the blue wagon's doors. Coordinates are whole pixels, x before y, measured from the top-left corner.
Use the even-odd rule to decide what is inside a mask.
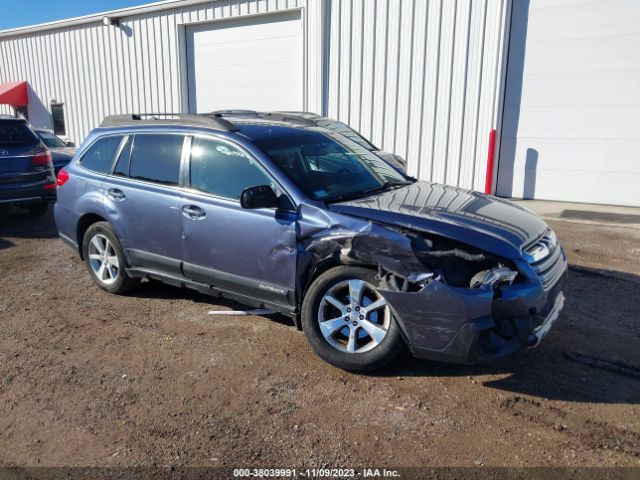
[[[132,276],[157,278],[285,315],[292,315],[296,309],[295,293],[286,288],[142,250],[127,249],[125,255],[130,266],[127,273]]]

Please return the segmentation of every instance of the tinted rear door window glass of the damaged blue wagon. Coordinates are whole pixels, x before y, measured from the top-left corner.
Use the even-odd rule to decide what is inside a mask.
[[[136,135],[131,150],[129,176],[140,180],[178,185],[182,135]]]

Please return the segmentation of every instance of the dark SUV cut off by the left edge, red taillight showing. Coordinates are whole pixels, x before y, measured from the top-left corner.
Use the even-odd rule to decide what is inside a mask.
[[[51,152],[24,118],[0,116],[0,204],[42,215],[55,200]]]

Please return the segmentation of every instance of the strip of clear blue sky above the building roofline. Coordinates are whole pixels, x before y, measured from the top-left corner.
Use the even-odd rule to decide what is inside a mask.
[[[132,7],[157,0],[0,0],[0,30]]]

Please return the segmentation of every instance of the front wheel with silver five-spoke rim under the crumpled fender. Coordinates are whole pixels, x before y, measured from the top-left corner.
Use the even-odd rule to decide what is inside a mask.
[[[343,370],[369,372],[400,353],[400,328],[377,287],[375,271],[349,266],[327,270],[311,284],[302,303],[302,327],[323,360]],[[362,301],[352,302],[358,290]],[[378,307],[366,311],[374,303]]]

